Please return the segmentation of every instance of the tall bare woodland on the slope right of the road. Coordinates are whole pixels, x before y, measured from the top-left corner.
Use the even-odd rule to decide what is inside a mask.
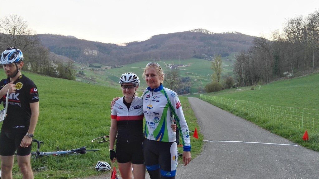
[[[268,83],[284,76],[299,76],[319,67],[319,10],[286,20],[272,39],[255,38],[235,56],[234,75],[239,86]]]

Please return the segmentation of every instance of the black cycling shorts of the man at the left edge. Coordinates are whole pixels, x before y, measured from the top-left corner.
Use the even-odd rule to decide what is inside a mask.
[[[0,155],[11,156],[17,150],[17,155],[26,156],[31,153],[32,143],[28,147],[20,147],[21,141],[26,136],[26,132],[12,133],[0,132]]]

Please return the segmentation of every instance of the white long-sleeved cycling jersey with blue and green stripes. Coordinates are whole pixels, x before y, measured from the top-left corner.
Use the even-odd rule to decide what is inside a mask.
[[[145,89],[142,98],[146,120],[144,137],[162,142],[176,141],[176,133],[171,128],[175,117],[182,136],[183,150],[190,151],[189,129],[177,94],[161,84],[156,89]]]

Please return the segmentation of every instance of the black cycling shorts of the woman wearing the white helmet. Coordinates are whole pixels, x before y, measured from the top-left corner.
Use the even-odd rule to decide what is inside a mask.
[[[116,141],[116,158],[119,163],[131,162],[132,164],[144,164],[143,142]]]

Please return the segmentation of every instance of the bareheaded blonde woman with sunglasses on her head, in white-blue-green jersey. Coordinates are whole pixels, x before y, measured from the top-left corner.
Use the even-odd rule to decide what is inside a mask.
[[[176,133],[170,128],[174,117],[182,135],[184,165],[191,159],[189,129],[182,105],[174,91],[163,87],[164,73],[158,63],[148,63],[143,77],[148,85],[142,95],[146,120],[143,142],[146,169],[151,179],[174,179],[178,157]]]

